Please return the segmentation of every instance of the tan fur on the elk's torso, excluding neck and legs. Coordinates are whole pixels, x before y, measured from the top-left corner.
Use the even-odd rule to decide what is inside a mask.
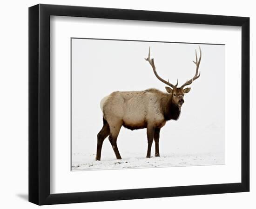
[[[103,115],[110,129],[115,125],[146,128],[150,124],[161,128],[165,124],[161,100],[166,97],[167,93],[156,89],[115,91],[101,100]]]

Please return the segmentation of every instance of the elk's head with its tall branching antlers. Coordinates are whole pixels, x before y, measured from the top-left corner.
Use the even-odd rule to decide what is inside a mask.
[[[182,104],[184,103],[184,94],[185,93],[189,93],[191,88],[185,88],[184,87],[186,85],[190,85],[192,84],[192,82],[199,78],[200,76],[200,72],[198,73],[198,69],[199,69],[199,65],[201,62],[201,57],[202,57],[202,52],[201,52],[201,48],[199,46],[199,51],[200,51],[200,57],[199,59],[197,59],[197,52],[195,50],[195,61],[193,61],[196,65],[196,70],[195,70],[195,76],[189,80],[187,80],[181,87],[177,87],[178,86],[178,79],[177,79],[177,83],[175,85],[171,84],[168,81],[162,79],[156,72],[156,67],[155,67],[155,63],[154,63],[154,59],[150,59],[150,47],[149,47],[149,52],[148,52],[148,58],[145,58],[145,60],[147,60],[149,62],[149,64],[152,66],[153,71],[155,73],[156,78],[158,78],[160,81],[162,81],[164,84],[170,86],[170,87],[165,87],[166,91],[169,93],[171,99],[172,99],[172,103],[177,105],[179,107],[179,109],[181,109]]]

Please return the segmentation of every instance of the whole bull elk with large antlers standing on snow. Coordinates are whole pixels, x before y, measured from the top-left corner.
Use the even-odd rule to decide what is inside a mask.
[[[106,137],[115,152],[117,159],[121,159],[117,148],[117,137],[122,126],[130,130],[147,128],[148,151],[147,157],[151,156],[151,146],[155,140],[155,157],[160,157],[159,137],[160,130],[168,120],[177,120],[181,113],[182,104],[184,103],[184,94],[188,93],[191,88],[185,88],[186,85],[199,78],[198,73],[201,61],[195,58],[193,61],[196,65],[195,76],[185,82],[181,87],[169,83],[162,79],[156,72],[154,59],[150,59],[150,47],[148,58],[146,59],[152,66],[156,78],[169,87],[165,87],[167,93],[157,89],[148,89],[145,91],[115,91],[101,100],[101,110],[103,113],[103,127],[97,135],[97,154],[96,160],[101,160],[102,143]]]

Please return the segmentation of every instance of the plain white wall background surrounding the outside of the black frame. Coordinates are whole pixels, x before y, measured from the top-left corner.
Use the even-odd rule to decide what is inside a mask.
[[[163,3],[161,1],[129,1],[127,3],[111,1],[40,1],[40,3],[67,4],[94,7],[117,7],[131,9],[158,10],[169,12],[205,13],[235,16],[249,16],[251,18],[251,39],[255,34],[255,13],[252,1],[182,1],[175,3]],[[37,207],[27,202],[27,99],[28,99],[28,78],[27,78],[27,7],[32,6],[36,1],[26,2],[5,2],[1,5],[1,205],[5,208]],[[230,7],[232,5],[232,7]],[[252,47],[255,43],[251,40],[251,58],[253,57]],[[255,61],[251,59],[251,69]],[[255,72],[251,72],[251,80],[255,78]],[[236,84],[234,84],[234,89]],[[253,85],[251,90],[253,91]],[[251,106],[253,103],[251,91]],[[251,116],[255,117],[251,109]],[[253,118],[251,119],[252,122]],[[253,127],[253,124],[251,124]],[[252,131],[252,134],[254,132]],[[253,136],[253,135],[252,135]],[[255,143],[251,143],[251,150],[255,149]],[[255,159],[255,153],[251,154],[251,161]],[[251,163],[252,165],[252,163]],[[255,174],[255,166],[251,167],[251,176]],[[251,179],[250,193],[221,194],[207,196],[171,197],[147,200],[130,200],[115,202],[96,202],[74,204],[72,208],[131,208],[131,207],[179,207],[179,208],[254,208],[254,196],[256,183]],[[71,205],[46,206],[46,208],[70,208]]]

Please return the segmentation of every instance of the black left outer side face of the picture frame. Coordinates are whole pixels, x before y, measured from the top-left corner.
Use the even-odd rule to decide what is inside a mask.
[[[39,204],[39,5],[28,9],[28,201]]]

